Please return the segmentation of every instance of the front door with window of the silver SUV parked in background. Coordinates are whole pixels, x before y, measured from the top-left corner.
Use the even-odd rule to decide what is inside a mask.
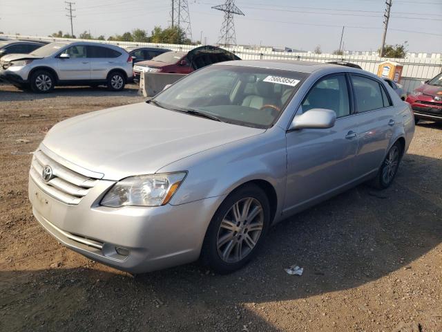
[[[76,45],[66,48],[69,58],[57,56],[57,74],[59,80],[90,80],[90,61],[86,55],[86,46]]]

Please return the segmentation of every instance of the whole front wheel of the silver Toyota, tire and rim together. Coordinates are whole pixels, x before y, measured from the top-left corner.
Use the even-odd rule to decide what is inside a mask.
[[[247,216],[252,219],[247,220]],[[242,268],[262,246],[269,225],[270,205],[265,192],[253,184],[238,188],[224,199],[209,224],[202,264],[220,274]]]

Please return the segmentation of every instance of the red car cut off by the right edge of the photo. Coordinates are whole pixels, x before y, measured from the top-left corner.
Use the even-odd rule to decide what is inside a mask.
[[[412,105],[414,120],[442,122],[442,73],[418,86],[407,102]]]

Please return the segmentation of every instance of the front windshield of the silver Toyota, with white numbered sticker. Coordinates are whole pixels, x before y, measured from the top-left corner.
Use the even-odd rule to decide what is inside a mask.
[[[153,102],[165,109],[198,111],[223,122],[268,128],[307,75],[269,68],[209,66],[180,80]]]

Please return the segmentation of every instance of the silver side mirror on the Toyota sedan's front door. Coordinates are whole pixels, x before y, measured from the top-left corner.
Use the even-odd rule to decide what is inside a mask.
[[[310,109],[295,116],[289,130],[291,129],[327,129],[334,126],[336,113],[331,109]]]

